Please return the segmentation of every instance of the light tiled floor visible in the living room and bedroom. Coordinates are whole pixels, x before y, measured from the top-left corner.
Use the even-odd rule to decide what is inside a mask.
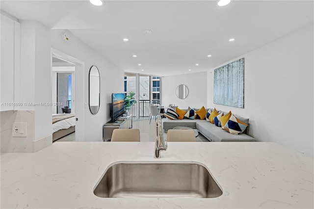
[[[132,129],[139,129],[141,141],[155,141],[153,137],[150,138],[150,126],[153,124],[149,123],[148,118],[141,118],[140,120],[134,120],[132,122]],[[154,125],[153,125],[154,126]],[[167,138],[167,133],[163,133],[164,137]],[[71,133],[57,141],[75,141],[75,133]],[[196,137],[196,141],[208,141],[202,134]]]

